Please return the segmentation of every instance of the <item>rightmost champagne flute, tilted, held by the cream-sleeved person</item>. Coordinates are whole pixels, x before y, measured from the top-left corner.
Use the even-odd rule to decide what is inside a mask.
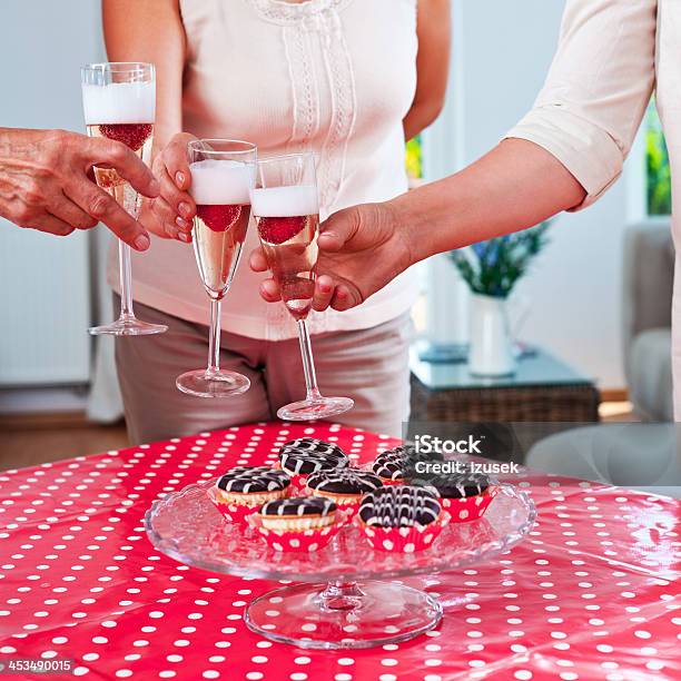
[[[349,397],[324,397],[317,387],[307,315],[315,290],[319,236],[319,204],[315,158],[292,154],[258,161],[253,213],[260,244],[286,309],[298,323],[307,395],[283,406],[277,416],[286,421],[328,418],[352,409]]]

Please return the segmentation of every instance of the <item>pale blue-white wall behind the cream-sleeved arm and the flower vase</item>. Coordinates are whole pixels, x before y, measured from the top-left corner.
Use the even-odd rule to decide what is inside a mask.
[[[557,0],[453,2],[450,101],[425,150],[435,154],[433,177],[478,158],[531,108],[553,57],[563,7]],[[625,194],[620,181],[589,210],[556,218],[550,246],[517,289],[532,303],[521,337],[553,351],[601,387],[624,385]]]

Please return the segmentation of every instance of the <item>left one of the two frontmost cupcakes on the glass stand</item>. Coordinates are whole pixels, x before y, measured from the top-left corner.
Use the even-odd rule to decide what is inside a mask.
[[[320,496],[267,502],[249,521],[275,551],[316,551],[344,524],[336,504]]]

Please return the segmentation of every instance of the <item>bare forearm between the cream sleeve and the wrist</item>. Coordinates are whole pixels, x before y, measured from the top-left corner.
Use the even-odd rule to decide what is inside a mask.
[[[417,263],[519,231],[579,206],[584,188],[545,149],[522,139],[501,142],[461,172],[387,204]]]

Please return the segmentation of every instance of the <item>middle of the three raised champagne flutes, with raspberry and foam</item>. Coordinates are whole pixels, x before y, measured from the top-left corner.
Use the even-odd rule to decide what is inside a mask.
[[[178,389],[197,397],[240,395],[250,381],[220,369],[220,304],[236,273],[250,219],[255,145],[230,139],[189,142],[190,193],[196,203],[194,253],[210,299],[208,366],[178,376]]]

